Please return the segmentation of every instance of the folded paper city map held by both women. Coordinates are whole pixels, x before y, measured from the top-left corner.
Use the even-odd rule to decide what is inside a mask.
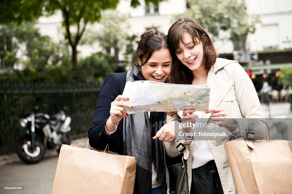
[[[171,112],[195,109],[206,111],[209,108],[210,87],[160,83],[156,81],[128,81],[123,95],[133,109],[124,107],[126,113],[156,111]]]

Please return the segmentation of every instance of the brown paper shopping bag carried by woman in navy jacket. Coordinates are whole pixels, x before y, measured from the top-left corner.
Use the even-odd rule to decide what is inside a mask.
[[[62,145],[52,193],[133,193],[135,158]]]

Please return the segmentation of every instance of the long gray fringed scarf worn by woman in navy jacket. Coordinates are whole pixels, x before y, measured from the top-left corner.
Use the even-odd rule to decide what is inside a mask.
[[[141,67],[133,66],[128,71],[126,81],[145,80]],[[156,132],[164,125],[163,112],[148,112],[131,114],[124,118],[123,143],[124,153],[135,157],[136,179],[134,193],[151,193],[152,162],[157,172],[157,181],[167,190],[164,163],[164,148],[162,141],[153,140]]]

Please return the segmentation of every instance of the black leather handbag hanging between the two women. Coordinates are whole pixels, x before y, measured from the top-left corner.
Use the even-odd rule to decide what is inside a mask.
[[[175,158],[171,158],[175,160]],[[171,160],[169,159],[169,160]],[[180,159],[180,163],[168,166],[169,189],[171,194],[188,194],[187,179],[187,161],[183,158],[183,154],[176,157]]]

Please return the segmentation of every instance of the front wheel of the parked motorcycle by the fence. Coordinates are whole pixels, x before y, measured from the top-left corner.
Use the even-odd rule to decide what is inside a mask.
[[[31,138],[24,137],[16,143],[16,153],[18,157],[27,164],[37,163],[44,156],[44,144],[35,139],[35,149],[31,146]]]

